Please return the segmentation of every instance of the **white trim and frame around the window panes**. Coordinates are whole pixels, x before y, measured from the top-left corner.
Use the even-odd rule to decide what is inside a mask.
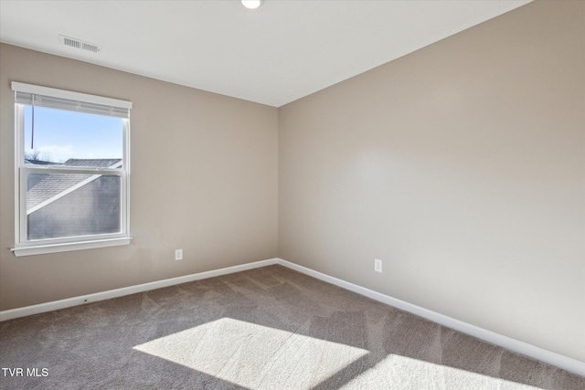
[[[39,95],[52,96],[55,98],[79,100],[94,104],[101,104],[106,106],[118,107],[128,110],[128,120],[123,121],[123,137],[122,137],[122,171],[114,170],[110,173],[104,172],[101,169],[85,169],[76,168],[69,171],[84,174],[122,174],[122,193],[121,193],[121,233],[82,236],[82,237],[65,237],[65,238],[48,238],[39,239],[35,241],[27,241],[26,237],[26,179],[23,179],[23,174],[28,171],[49,172],[55,171],[50,167],[25,167],[24,166],[24,105],[15,104],[15,233],[16,245],[10,250],[16,257],[41,255],[48,253],[58,253],[71,250],[91,249],[91,248],[107,248],[122,245],[129,245],[132,241],[130,237],[130,109],[132,109],[132,101],[117,100],[112,98],[105,98],[96,95],[89,95],[80,92],[73,92],[70,90],[57,90],[48,87],[41,87],[32,84],[25,84],[13,81],[11,83],[12,90],[34,93]],[[62,171],[61,171],[62,172]]]

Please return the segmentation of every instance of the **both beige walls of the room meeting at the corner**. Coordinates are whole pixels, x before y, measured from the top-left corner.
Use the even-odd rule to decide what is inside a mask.
[[[0,46],[0,310],[278,255],[585,361],[584,16],[532,3],[278,111]],[[131,246],[9,252],[11,80],[133,100]]]

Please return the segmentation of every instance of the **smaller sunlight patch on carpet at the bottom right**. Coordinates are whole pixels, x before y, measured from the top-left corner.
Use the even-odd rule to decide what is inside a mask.
[[[397,354],[389,354],[374,367],[359,374],[341,388],[539,389],[539,387]]]

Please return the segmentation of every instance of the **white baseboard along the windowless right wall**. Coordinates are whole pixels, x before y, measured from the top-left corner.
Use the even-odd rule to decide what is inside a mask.
[[[311,276],[315,279],[320,279],[328,283],[334,284],[335,286],[341,287],[343,289],[356,292],[360,295],[364,295],[368,298],[371,298],[372,300],[378,300],[397,309],[409,311],[422,318],[426,318],[427,320],[440,323],[441,325],[446,326],[447,328],[451,328],[454,329],[455,331],[469,334],[473,337],[484,340],[485,342],[493,343],[495,345],[504,347],[505,349],[508,349],[510,351],[522,353],[528,357],[537,359],[544,363],[552,364],[571,373],[585,376],[585,363],[577,359],[570,358],[560,353],[550,352],[548,350],[539,348],[535,345],[521,342],[519,340],[513,339],[500,333],[488,331],[487,329],[480,328],[478,326],[472,325],[471,323],[459,321],[452,317],[438,313],[436,311],[430,311],[428,309],[421,308],[420,306],[413,305],[412,303],[406,302],[404,300],[399,300],[388,295],[381,294],[377,291],[357,286],[356,284],[349,283],[346,280],[337,279],[329,275],[325,275],[324,273],[315,271],[314,269],[307,269],[303,266],[299,266],[289,261],[283,260],[282,258],[278,258],[277,260],[278,264],[281,264],[282,266],[287,267],[289,269],[294,269],[296,271],[302,272],[303,274]]]

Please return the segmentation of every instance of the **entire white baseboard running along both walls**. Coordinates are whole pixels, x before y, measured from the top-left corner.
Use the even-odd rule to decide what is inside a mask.
[[[451,328],[455,331],[469,334],[473,337],[484,340],[488,343],[493,343],[495,345],[504,347],[516,353],[522,353],[528,357],[532,357],[544,363],[552,364],[571,373],[585,376],[585,363],[580,362],[579,360],[570,358],[568,356],[564,356],[559,353],[550,352],[548,350],[539,348],[535,345],[521,342],[519,340],[513,339],[503,334],[488,331],[484,328],[472,325],[471,323],[459,321],[452,317],[438,313],[436,311],[430,311],[420,306],[413,305],[404,300],[399,300],[388,295],[381,294],[377,291],[357,286],[356,284],[347,282],[346,280],[337,279],[329,275],[325,275],[324,273],[315,271],[314,269],[308,269],[306,267],[296,265],[282,258],[270,258],[267,260],[242,264],[239,266],[228,267],[225,269],[215,269],[207,272],[200,272],[197,274],[186,275],[178,278],[157,280],[150,283],[139,284],[136,286],[124,287],[122,289],[96,292],[94,294],[82,295],[80,297],[69,298],[66,300],[55,300],[52,302],[41,303],[38,305],[27,306],[24,308],[0,311],[0,321],[12,320],[19,317],[26,317],[28,315],[38,314],[46,311],[56,311],[59,309],[65,309],[72,306],[82,305],[84,303],[95,302],[98,300],[110,300],[112,298],[135,294],[137,292],[161,289],[164,287],[175,286],[176,284],[187,283],[189,281],[213,278],[248,269],[257,269],[261,267],[271,266],[274,264],[280,264],[289,269],[294,269],[315,279],[320,279],[327,283],[331,283],[334,284],[335,286],[341,287],[342,289],[350,290],[356,292],[357,294],[364,295],[368,298],[371,298],[372,300],[378,300],[382,303],[386,303],[400,310],[409,311],[422,318],[426,318],[427,320],[440,323],[441,325]]]

